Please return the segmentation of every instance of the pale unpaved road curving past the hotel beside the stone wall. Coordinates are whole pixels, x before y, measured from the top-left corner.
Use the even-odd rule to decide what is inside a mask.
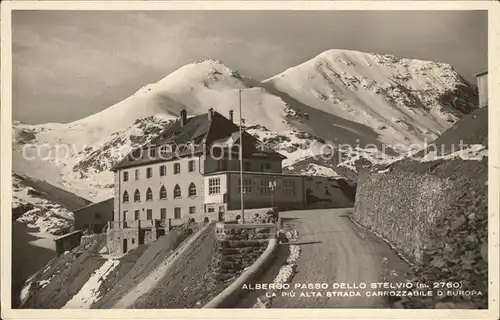
[[[283,212],[285,224],[292,224],[299,231],[296,243],[301,247],[297,273],[291,289],[295,297],[278,294],[272,308],[387,308],[387,297],[367,297],[372,289],[332,289],[334,283],[360,286],[365,283],[405,280],[409,266],[380,238],[358,227],[350,219],[352,209],[321,209]],[[284,245],[283,249],[287,249]],[[262,280],[274,278],[266,272]],[[295,289],[296,285],[327,283],[329,289]],[[320,291],[323,297],[312,297]],[[326,297],[328,291],[360,292],[360,297]],[[309,292],[309,296],[306,296]],[[303,293],[304,296],[300,296]]]

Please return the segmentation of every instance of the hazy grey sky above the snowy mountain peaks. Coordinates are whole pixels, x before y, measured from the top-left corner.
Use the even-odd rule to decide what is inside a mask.
[[[487,70],[486,11],[14,11],[13,117],[71,122],[202,58],[267,79],[328,49]]]

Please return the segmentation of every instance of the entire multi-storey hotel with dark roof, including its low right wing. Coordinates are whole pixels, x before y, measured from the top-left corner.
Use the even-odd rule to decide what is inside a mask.
[[[112,169],[110,254],[124,254],[154,241],[188,220],[224,221],[226,212],[241,209],[241,188],[248,209],[304,209],[313,200],[329,203],[331,195],[345,198],[339,185],[328,178],[284,175],[284,159],[246,132],[240,139],[232,112],[225,118],[211,109],[187,118],[183,110],[157,138],[130,152]],[[317,189],[320,195],[311,196]],[[346,203],[349,200],[334,205]]]

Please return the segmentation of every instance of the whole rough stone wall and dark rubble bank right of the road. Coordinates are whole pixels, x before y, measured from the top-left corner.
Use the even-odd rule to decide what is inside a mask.
[[[371,170],[371,171],[370,171]],[[415,262],[409,281],[481,295],[404,298],[405,308],[487,308],[488,159],[402,161],[360,170],[353,219]]]

